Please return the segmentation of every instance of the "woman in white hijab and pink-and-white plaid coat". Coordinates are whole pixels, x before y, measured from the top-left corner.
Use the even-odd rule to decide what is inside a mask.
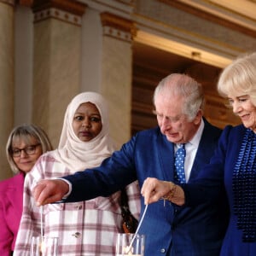
[[[113,150],[108,134],[108,108],[102,96],[95,92],[75,96],[67,107],[59,147],[43,154],[26,176],[15,255],[27,256],[32,236],[41,235],[41,210],[44,236],[58,237],[58,255],[114,255],[115,237],[121,232],[120,192],[90,201],[49,204],[43,209],[36,206],[32,197],[32,187],[39,180],[99,166]],[[138,218],[137,183],[128,188],[129,207]]]

